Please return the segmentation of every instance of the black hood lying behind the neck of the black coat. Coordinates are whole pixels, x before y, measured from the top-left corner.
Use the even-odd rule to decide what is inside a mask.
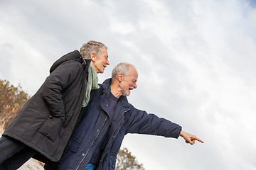
[[[52,67],[50,67],[50,73],[53,72],[53,70],[58,67],[60,64],[63,64],[63,62],[67,62],[69,60],[75,60],[77,62],[80,62],[81,64],[86,64],[89,65],[90,64],[90,60],[83,60],[82,59],[82,55],[80,55],[80,52],[78,50],[75,50],[73,52],[69,52],[66,55],[63,55],[63,57],[60,57],[59,60],[55,61],[52,65]]]

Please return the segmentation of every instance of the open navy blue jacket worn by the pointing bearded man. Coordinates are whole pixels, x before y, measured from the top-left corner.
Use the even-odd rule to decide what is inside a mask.
[[[97,108],[97,111],[93,114],[87,111],[84,118],[82,118],[78,129],[75,130],[70,138],[63,157],[60,159],[59,169],[84,170],[95,148],[107,132],[111,136],[97,166],[97,169],[100,170],[115,168],[117,153],[121,147],[124,135],[127,135],[127,133],[178,138],[181,126],[171,123],[171,121],[164,118],[158,118],[154,114],[148,114],[146,111],[134,108],[134,106],[128,103],[126,96],[119,98],[114,111],[114,114],[118,114],[117,120],[112,121],[111,124],[110,113],[108,113],[107,108],[107,98],[110,96],[110,83],[111,79],[107,79],[100,85],[100,89],[91,92],[90,103],[87,105],[87,109],[90,109],[92,105],[97,105],[97,107],[94,107]],[[90,128],[87,125],[85,126],[84,123],[90,123]],[[84,127],[87,127],[87,129],[84,129]],[[110,130],[108,129],[109,127]]]

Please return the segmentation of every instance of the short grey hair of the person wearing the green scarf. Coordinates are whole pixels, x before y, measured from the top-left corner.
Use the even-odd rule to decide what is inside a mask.
[[[95,55],[100,55],[100,52],[102,52],[103,48],[107,50],[107,46],[102,42],[90,40],[86,44],[82,45],[80,48],[80,54],[82,55],[82,58],[90,59],[90,53],[93,52]]]

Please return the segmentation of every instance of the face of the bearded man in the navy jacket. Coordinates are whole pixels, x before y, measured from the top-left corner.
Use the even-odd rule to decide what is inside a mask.
[[[133,67],[129,67],[129,73],[122,79],[120,88],[123,96],[129,96],[131,90],[137,88],[138,72]]]

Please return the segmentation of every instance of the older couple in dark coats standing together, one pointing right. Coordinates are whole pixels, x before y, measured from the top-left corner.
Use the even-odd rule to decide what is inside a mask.
[[[0,139],[0,169],[18,169],[31,157],[50,169],[114,169],[127,133],[198,139],[181,126],[134,108],[127,96],[138,72],[129,63],[98,85],[108,60],[107,46],[89,41],[60,57],[50,75],[21,108]]]

